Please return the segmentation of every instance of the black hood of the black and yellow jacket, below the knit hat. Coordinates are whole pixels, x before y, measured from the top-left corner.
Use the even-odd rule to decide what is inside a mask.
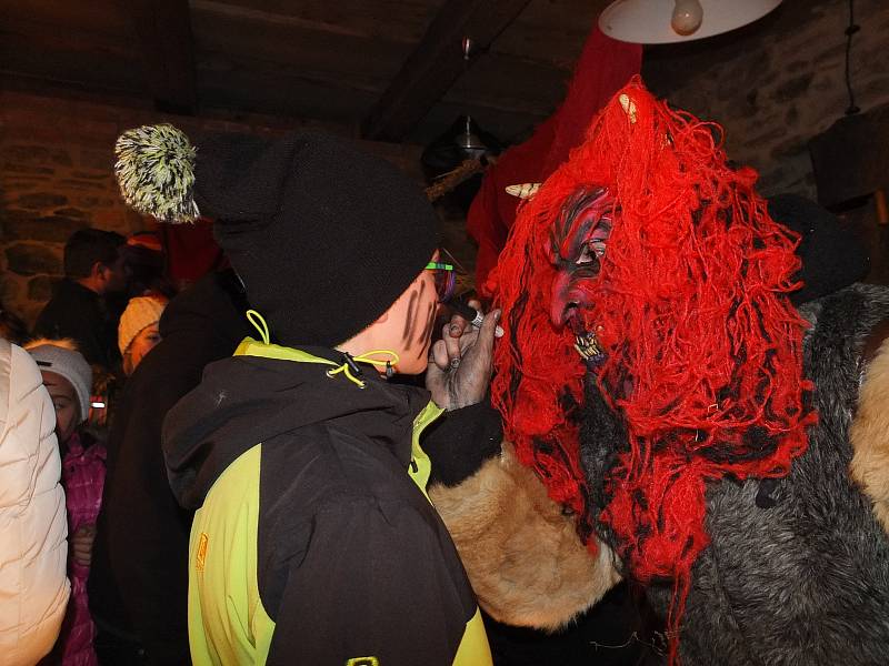
[[[413,420],[429,393],[386,382],[370,366],[361,375],[363,389],[344,373],[329,376],[342,362],[333,350],[290,350],[248,337],[234,356],[208,365],[201,384],[163,422],[167,471],[179,503],[199,508],[243,452],[312,425],[360,432],[407,467]]]

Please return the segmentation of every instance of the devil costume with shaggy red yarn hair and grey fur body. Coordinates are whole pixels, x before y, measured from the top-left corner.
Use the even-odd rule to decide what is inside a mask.
[[[495,404],[589,549],[649,586],[671,662],[882,664],[882,352],[855,428],[875,511],[849,431],[889,291],[800,316],[798,236],[719,132],[638,81],[593,121],[501,255]]]

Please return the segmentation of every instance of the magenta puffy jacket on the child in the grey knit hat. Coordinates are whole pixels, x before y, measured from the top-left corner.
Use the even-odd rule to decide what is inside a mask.
[[[84,450],[86,438],[74,433],[68,441],[68,453],[62,461],[68,533],[71,536],[82,525],[96,525],[102,504],[106,448],[97,442]],[[96,626],[87,599],[90,569],[69,557],[68,572],[71,577],[71,601],[62,626],[62,665],[97,666],[98,660],[92,648]]]

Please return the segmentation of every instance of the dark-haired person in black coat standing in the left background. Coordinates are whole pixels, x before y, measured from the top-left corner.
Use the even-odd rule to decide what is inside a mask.
[[[124,244],[119,233],[100,229],[71,234],[64,244],[64,280],[34,325],[34,336],[72,339],[87,362],[106,372],[120,363],[117,317],[107,299],[127,289]]]

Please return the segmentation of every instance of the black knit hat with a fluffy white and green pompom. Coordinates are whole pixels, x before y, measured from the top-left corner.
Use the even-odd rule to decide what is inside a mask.
[[[349,141],[316,132],[204,137],[170,125],[118,140],[127,203],[164,221],[198,214],[287,345],[341,343],[373,323],[436,248],[420,186]]]

